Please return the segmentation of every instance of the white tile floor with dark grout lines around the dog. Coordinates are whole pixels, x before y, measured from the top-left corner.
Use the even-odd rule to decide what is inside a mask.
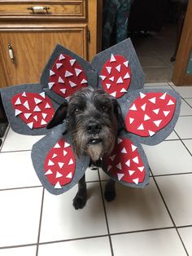
[[[1,256],[192,255],[192,86],[146,86],[177,90],[181,116],[163,143],[144,146],[149,186],[117,185],[111,203],[103,201],[107,176],[101,170],[87,172],[89,200],[83,210],[72,208],[76,187],[61,196],[46,192],[30,159],[41,136],[7,129],[0,149]]]

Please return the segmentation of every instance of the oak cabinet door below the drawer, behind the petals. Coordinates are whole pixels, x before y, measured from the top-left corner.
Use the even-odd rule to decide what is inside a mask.
[[[8,44],[12,47],[13,62]],[[86,59],[86,25],[0,31],[0,87],[39,82],[56,44],[66,46]]]

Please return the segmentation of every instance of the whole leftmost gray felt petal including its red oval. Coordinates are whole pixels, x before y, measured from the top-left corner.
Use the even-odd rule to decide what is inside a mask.
[[[39,84],[24,84],[20,86],[11,86],[7,88],[2,88],[0,90],[0,93],[2,95],[2,104],[5,108],[5,112],[7,114],[7,118],[12,130],[14,130],[15,132],[21,135],[45,135],[46,133],[48,133],[48,130],[46,130],[46,124],[43,124],[43,123],[44,121],[48,122],[50,120],[53,113],[55,112],[55,109],[59,107],[59,104],[57,104],[54,100],[50,100],[49,97],[47,97],[47,95],[45,95],[46,99],[44,99],[40,95],[41,93],[43,93],[43,90]],[[26,93],[26,95],[30,95],[29,102],[28,102],[28,97],[25,97],[25,96],[19,97],[19,95],[24,95],[24,93]],[[40,99],[42,101],[41,103],[36,104],[35,99],[36,100]],[[20,102],[21,100],[21,102],[25,104],[25,106],[23,104],[15,105],[14,103],[16,103],[17,100],[18,102]],[[46,104],[48,102],[51,105],[51,108],[46,108]],[[44,106],[45,108],[41,108],[42,110],[41,112],[34,111],[36,107],[38,110],[39,108],[38,106],[40,107]],[[17,112],[16,109],[19,110],[19,112]],[[24,110],[26,111],[25,113],[24,113]],[[22,113],[20,113],[20,111],[22,111]],[[44,115],[46,113],[47,113],[47,116]],[[24,117],[24,114],[25,114],[25,117]],[[28,116],[27,114],[32,114],[32,115]],[[37,121],[34,118],[37,118]],[[34,125],[33,127],[32,127],[32,122]],[[29,124],[29,126],[27,124]],[[36,127],[37,124],[38,126],[40,124],[40,128]],[[32,129],[32,128],[35,128],[35,129]]]

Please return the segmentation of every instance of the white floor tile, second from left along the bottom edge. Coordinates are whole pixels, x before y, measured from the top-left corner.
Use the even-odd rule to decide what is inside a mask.
[[[111,256],[108,237],[91,238],[79,241],[66,241],[40,245],[38,256]]]

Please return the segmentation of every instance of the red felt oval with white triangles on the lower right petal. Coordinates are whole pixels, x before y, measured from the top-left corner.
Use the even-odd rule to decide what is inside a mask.
[[[111,152],[111,157],[105,158],[107,172],[119,181],[125,183],[142,183],[146,170],[137,147],[130,139],[118,139],[118,143]]]

